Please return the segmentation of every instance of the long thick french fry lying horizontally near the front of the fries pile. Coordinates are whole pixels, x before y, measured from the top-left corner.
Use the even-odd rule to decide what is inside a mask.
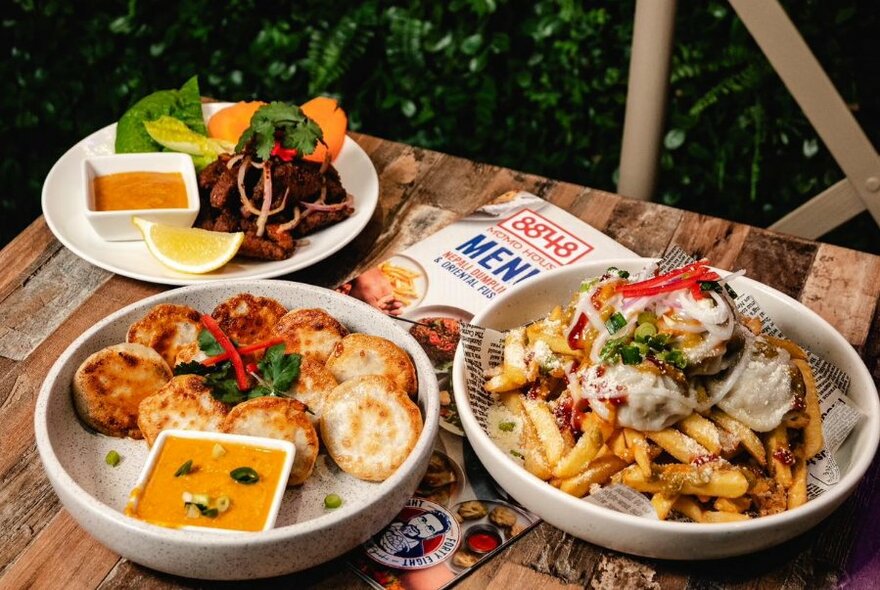
[[[698,468],[690,465],[656,467],[657,471],[650,478],[642,474],[638,465],[627,467],[622,473],[621,483],[649,494],[679,492],[722,498],[739,498],[749,489],[748,480],[738,469],[714,469],[701,474]]]

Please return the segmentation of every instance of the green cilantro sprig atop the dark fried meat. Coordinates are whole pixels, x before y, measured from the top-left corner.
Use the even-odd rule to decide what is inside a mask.
[[[275,143],[282,148],[295,149],[298,153],[309,155],[315,151],[319,141],[324,140],[321,127],[308,118],[298,106],[284,102],[271,102],[257,109],[251,118],[251,125],[242,134],[235,146],[241,152],[253,142],[257,157],[268,160]]]

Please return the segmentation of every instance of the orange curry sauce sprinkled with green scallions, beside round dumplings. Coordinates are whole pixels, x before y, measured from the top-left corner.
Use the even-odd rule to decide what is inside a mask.
[[[292,449],[260,443],[169,434],[146,483],[132,490],[126,514],[171,528],[263,530],[277,509]]]

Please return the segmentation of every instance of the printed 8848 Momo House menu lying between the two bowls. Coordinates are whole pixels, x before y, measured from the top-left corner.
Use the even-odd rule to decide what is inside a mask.
[[[461,430],[450,375],[458,322],[541,272],[634,256],[564,210],[513,191],[339,287],[407,322],[440,383],[442,428],[416,496],[349,558],[372,586],[444,588],[539,521],[492,480]]]

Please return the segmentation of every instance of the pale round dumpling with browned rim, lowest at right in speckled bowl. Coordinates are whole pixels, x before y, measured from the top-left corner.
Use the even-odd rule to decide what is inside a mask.
[[[416,446],[422,415],[392,381],[364,375],[342,383],[324,402],[321,438],[340,469],[367,481],[393,474]]]

